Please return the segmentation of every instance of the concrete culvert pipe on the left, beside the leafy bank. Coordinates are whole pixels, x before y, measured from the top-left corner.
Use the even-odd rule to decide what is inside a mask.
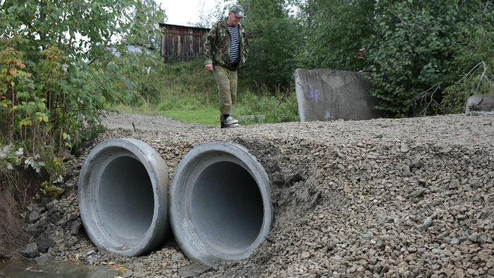
[[[111,139],[97,145],[80,170],[80,217],[96,246],[133,256],[164,243],[169,231],[168,167],[146,143]]]

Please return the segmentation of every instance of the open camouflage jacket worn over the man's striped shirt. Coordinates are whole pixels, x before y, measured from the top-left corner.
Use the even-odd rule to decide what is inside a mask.
[[[206,61],[205,65],[213,64],[229,68],[231,70],[237,70],[243,66],[247,61],[248,54],[248,40],[247,32],[245,28],[239,23],[240,34],[240,62],[236,68],[230,67],[230,44],[231,37],[228,30],[227,19],[221,20],[212,26],[209,34],[207,34],[204,42]]]

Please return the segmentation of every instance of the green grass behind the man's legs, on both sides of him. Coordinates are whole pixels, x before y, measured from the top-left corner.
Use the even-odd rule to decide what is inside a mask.
[[[128,114],[163,115],[186,123],[219,125],[216,80],[203,69],[202,61],[160,63],[152,73],[137,79],[144,80],[138,87],[141,99],[114,109]],[[241,124],[299,121],[293,91],[272,93],[261,87],[253,92],[248,87],[253,84],[251,80],[241,81],[232,115]]]

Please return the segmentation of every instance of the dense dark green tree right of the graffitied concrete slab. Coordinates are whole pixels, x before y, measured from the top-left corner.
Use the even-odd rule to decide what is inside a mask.
[[[390,116],[438,113],[444,88],[481,61],[492,65],[491,1],[380,0],[375,12],[367,70],[376,108]]]

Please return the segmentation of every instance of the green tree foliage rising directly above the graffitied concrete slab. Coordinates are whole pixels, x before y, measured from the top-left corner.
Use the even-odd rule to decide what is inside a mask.
[[[305,68],[360,71],[359,50],[373,34],[374,0],[299,3],[304,40],[297,61]]]

